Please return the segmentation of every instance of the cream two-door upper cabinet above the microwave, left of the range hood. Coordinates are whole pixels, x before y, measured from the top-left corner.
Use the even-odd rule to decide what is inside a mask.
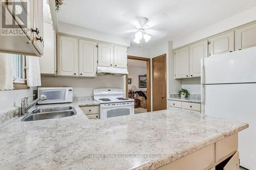
[[[96,77],[97,43],[57,36],[58,76]]]

